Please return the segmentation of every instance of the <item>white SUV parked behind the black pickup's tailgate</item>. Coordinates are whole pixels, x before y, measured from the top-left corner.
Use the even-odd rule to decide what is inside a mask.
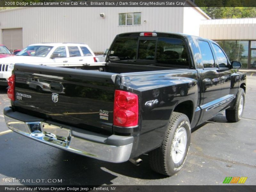
[[[14,57],[0,59],[0,85],[7,85],[7,79],[12,74],[15,63],[34,65],[63,66],[70,63],[94,63],[96,58],[86,44],[74,43],[42,43],[32,44],[21,50]]]

